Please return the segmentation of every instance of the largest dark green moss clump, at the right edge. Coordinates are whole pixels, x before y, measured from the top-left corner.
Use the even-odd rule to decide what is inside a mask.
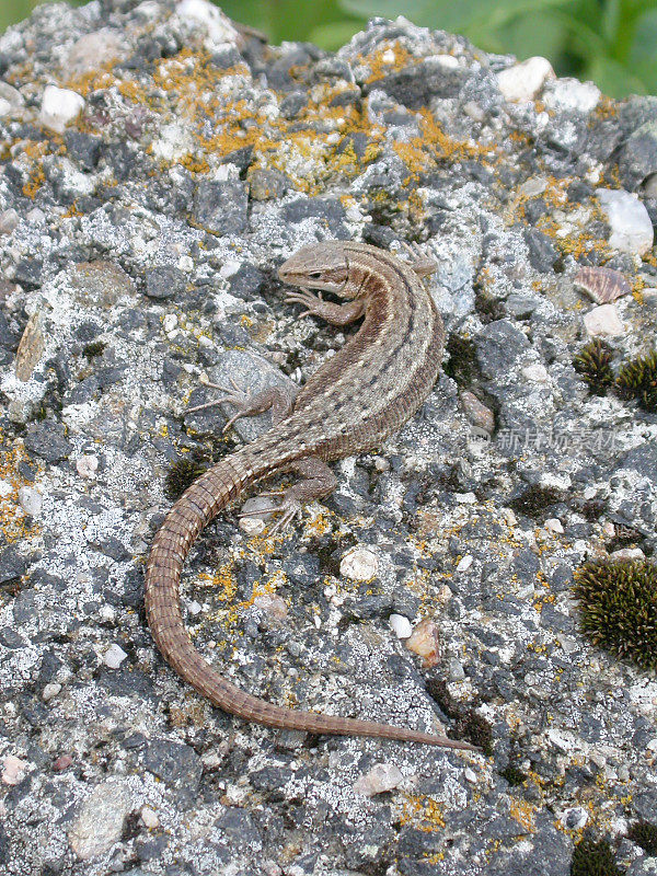
[[[657,566],[645,560],[585,563],[573,590],[581,631],[595,645],[657,669]]]

